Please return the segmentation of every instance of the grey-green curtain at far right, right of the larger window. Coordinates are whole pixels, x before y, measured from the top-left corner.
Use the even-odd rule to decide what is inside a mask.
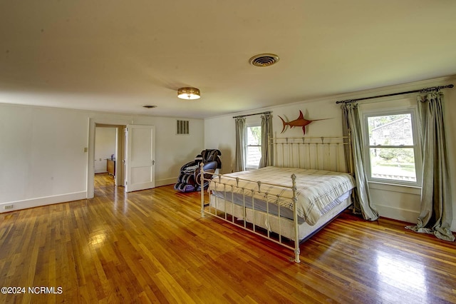
[[[420,233],[431,233],[442,240],[454,241],[452,198],[448,154],[443,123],[443,93],[418,96],[420,143],[423,148],[423,186],[421,211],[416,226]]]

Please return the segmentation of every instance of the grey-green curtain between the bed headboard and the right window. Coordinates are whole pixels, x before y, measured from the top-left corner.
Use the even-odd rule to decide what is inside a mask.
[[[342,106],[343,135],[348,136],[351,132],[351,150],[356,188],[353,190],[353,206],[355,213],[361,213],[363,218],[369,221],[378,219],[378,212],[372,205],[369,193],[368,177],[364,170],[363,140],[361,135],[361,122],[359,120],[358,104],[346,103]],[[350,163],[346,153],[346,163]]]

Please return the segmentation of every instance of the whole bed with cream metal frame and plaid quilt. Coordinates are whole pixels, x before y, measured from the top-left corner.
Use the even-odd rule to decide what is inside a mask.
[[[274,166],[212,176],[209,201],[202,190],[201,214],[284,245],[299,263],[299,244],[351,206],[348,143],[343,137],[273,138]]]

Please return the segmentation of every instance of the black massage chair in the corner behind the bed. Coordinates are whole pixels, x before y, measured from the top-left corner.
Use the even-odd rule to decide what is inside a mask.
[[[217,168],[222,168],[220,153],[217,149],[206,149],[197,155],[195,161],[190,161],[180,168],[180,175],[175,184],[175,190],[181,192],[192,192],[201,190],[201,169],[199,164],[203,163],[204,178],[212,178]],[[208,181],[204,182],[204,188],[209,185]]]

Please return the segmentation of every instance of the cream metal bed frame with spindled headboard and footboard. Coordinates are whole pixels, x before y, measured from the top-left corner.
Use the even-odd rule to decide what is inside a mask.
[[[346,166],[345,161],[345,147],[347,147],[347,152],[351,155],[351,137],[350,136],[339,136],[339,137],[302,137],[302,138],[271,138],[269,141],[269,151],[273,151],[273,153],[269,153],[269,155],[273,155],[271,157],[273,166],[277,167],[291,167],[291,168],[310,168],[316,170],[326,170],[326,171],[336,171],[336,172],[353,172],[352,170],[352,162],[351,157],[348,158],[348,166]],[[299,245],[301,241],[306,240],[314,233],[321,230],[326,223],[332,221],[333,218],[338,216],[337,213],[335,216],[332,216],[328,221],[323,223],[319,228],[306,235],[305,238],[299,238],[299,221],[298,216],[296,213],[296,176],[295,174],[291,175],[290,186],[281,186],[275,185],[271,183],[263,183],[261,181],[255,181],[258,185],[257,190],[247,190],[242,187],[239,187],[239,181],[243,181],[242,178],[234,178],[236,180],[236,185],[230,185],[227,183],[223,183],[221,181],[222,176],[219,174],[212,174],[212,173],[204,173],[202,166],[200,166],[201,170],[201,184],[204,185],[204,182],[213,182],[213,183],[221,183],[224,186],[224,201],[230,201],[229,197],[227,197],[227,193],[233,193],[234,188],[237,191],[242,193],[242,205],[235,205],[231,203],[231,210],[227,211],[227,203],[224,203],[224,210],[219,210],[216,207],[210,206],[209,202],[204,201],[204,187],[201,188],[201,216],[204,218],[204,215],[210,214],[211,216],[215,216],[217,218],[222,219],[223,221],[227,221],[232,223],[233,225],[240,227],[244,230],[249,230],[251,233],[260,235],[263,238],[267,238],[274,243],[282,245],[286,248],[294,250],[294,262],[299,263],[299,254],[300,249]],[[206,177],[204,177],[206,176]],[[207,178],[211,176],[211,178]],[[227,178],[226,176],[224,178]],[[247,181],[247,180],[245,180]],[[255,202],[254,202],[254,192],[255,193],[262,193],[264,196],[268,196],[267,193],[261,191],[261,186],[276,186],[284,189],[291,189],[293,196],[291,201],[293,201],[293,226],[294,226],[294,236],[292,238],[286,238],[282,235],[281,227],[282,223],[286,222],[288,219],[283,218],[281,216],[281,208],[278,208],[278,214],[274,215],[269,212],[269,203],[266,203],[266,218],[274,217],[278,219],[279,222],[279,231],[273,231],[271,233],[269,227],[264,227],[259,225],[255,221]],[[228,188],[228,189],[227,189]],[[228,192],[227,192],[228,191]],[[214,198],[209,189],[209,201],[212,197]],[[233,198],[233,194],[231,194],[231,199]],[[247,206],[246,200],[250,200],[252,198],[252,215],[253,221],[247,221]],[[277,195],[277,200],[281,198]],[[349,199],[349,198],[348,198]],[[231,200],[233,201],[233,200]],[[267,201],[267,200],[266,200]],[[236,207],[235,207],[236,206]],[[237,208],[237,211],[234,210]],[[343,209],[345,210],[345,208]],[[343,211],[342,210],[342,211]],[[231,211],[231,212],[229,212]],[[239,223],[239,221],[241,223]],[[289,221],[289,220],[288,220]],[[318,221],[319,222],[319,221]],[[287,222],[288,223],[288,222]],[[266,233],[260,228],[266,229]],[[259,232],[261,231],[261,232]],[[294,239],[294,245],[289,245],[289,240]]]

